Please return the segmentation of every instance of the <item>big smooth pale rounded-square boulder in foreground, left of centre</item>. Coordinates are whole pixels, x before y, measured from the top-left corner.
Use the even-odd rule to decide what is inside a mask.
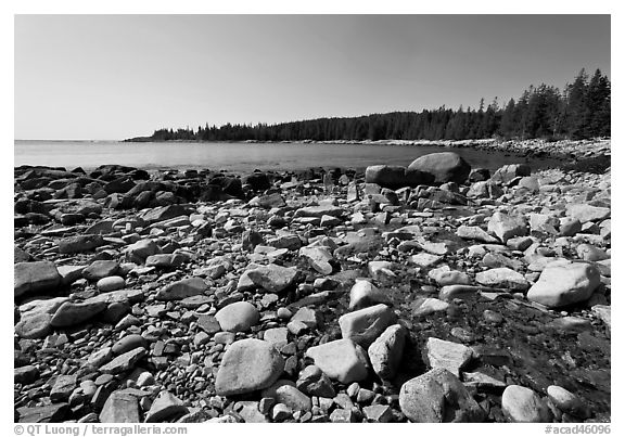
[[[215,389],[220,396],[260,390],[273,384],[284,370],[284,360],[268,342],[246,338],[234,342],[226,351]]]

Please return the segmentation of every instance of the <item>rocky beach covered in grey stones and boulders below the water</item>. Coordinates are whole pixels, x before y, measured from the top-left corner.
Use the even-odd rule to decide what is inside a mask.
[[[456,146],[16,167],[15,422],[610,422],[610,140]]]

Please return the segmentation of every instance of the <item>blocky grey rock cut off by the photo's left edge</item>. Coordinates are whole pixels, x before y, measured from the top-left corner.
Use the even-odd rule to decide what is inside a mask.
[[[13,269],[13,294],[49,292],[61,284],[61,275],[51,261],[17,262]]]

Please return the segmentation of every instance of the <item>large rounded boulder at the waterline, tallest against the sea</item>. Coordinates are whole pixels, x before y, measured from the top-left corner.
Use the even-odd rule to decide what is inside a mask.
[[[432,183],[463,183],[471,172],[471,165],[454,152],[431,153],[418,157],[408,166],[407,173],[421,171],[433,178]]]

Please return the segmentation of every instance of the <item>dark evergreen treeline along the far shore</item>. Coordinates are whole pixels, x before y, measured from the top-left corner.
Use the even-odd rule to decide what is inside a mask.
[[[485,107],[457,111],[394,112],[360,117],[194,129],[160,129],[131,141],[303,141],[303,140],[464,140],[464,139],[587,139],[610,137],[611,83],[599,69],[584,69],[561,91],[545,83],[525,90],[503,107],[497,98]]]

